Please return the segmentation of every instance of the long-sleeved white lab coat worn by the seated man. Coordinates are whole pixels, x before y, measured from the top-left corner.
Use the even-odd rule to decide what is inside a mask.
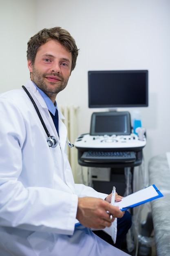
[[[59,111],[58,138],[46,103],[35,85],[31,93],[49,130],[47,144],[37,112],[23,89],[0,95],[0,256],[124,255],[90,229],[75,228],[78,196],[105,198],[74,184],[66,155],[66,127]],[[95,242],[94,242],[95,241]],[[85,248],[85,249],[84,249]],[[106,249],[107,248],[107,249]],[[120,254],[119,254],[120,253]]]

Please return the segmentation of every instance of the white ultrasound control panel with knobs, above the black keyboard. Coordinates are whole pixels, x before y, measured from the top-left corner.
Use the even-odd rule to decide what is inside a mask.
[[[75,140],[78,150],[131,150],[139,151],[146,146],[146,137],[139,140],[135,134],[130,135],[90,135],[82,134]]]

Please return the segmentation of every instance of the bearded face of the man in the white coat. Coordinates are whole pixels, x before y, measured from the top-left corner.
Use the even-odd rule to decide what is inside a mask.
[[[56,40],[40,46],[32,65],[28,60],[31,80],[54,102],[58,92],[64,90],[71,74],[72,56]]]

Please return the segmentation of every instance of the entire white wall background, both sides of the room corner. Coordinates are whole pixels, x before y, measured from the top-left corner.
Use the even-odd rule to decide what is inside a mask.
[[[148,69],[149,107],[140,109],[147,129],[146,165],[170,151],[169,0],[0,0],[0,5],[0,92],[20,88],[29,78],[29,38],[44,27],[63,27],[80,52],[57,102],[80,106],[79,134],[89,132],[97,110],[88,109],[88,70]]]

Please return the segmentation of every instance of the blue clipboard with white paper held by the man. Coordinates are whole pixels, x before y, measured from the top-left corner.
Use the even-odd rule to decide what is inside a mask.
[[[145,204],[157,198],[163,197],[163,194],[157,189],[155,184],[152,184],[144,189],[134,192],[122,198],[120,202],[115,202],[115,206],[119,206],[121,211],[126,211],[129,208],[136,207],[140,204]]]

